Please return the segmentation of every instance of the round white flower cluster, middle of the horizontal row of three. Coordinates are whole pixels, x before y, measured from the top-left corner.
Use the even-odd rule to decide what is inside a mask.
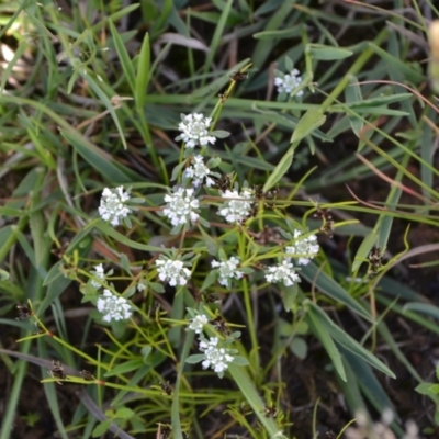
[[[173,193],[165,195],[167,203],[164,215],[168,217],[173,226],[179,224],[192,224],[199,218],[199,200],[193,196],[193,189],[173,188]]]

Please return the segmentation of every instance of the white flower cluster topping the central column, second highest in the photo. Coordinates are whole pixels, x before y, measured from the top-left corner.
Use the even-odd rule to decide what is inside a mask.
[[[181,134],[176,137],[176,140],[183,140],[187,148],[193,148],[196,145],[213,145],[216,142],[216,138],[209,135],[211,123],[211,117],[204,117],[204,115],[200,113],[188,115],[181,114],[181,122],[179,124]]]

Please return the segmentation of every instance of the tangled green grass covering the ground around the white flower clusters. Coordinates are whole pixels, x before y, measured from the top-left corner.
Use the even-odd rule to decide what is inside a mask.
[[[0,439],[18,423],[41,424],[25,404],[30,385],[61,438],[316,438],[331,389],[347,406],[326,425],[336,437],[358,410],[370,421],[386,408],[402,437],[407,409],[386,384],[402,386],[402,371],[413,397],[429,401],[423,434],[437,427],[439,391],[412,364],[394,323],[439,331],[426,289],[397,273],[410,275],[406,260],[439,249],[412,235],[439,226],[429,23],[416,0],[405,15],[398,0],[385,10],[346,2],[338,14],[320,3],[0,2],[9,48],[0,82],[0,325],[9,336],[0,354],[11,382]],[[275,70],[293,68],[300,87],[278,94]],[[212,117],[216,142],[195,151],[212,158],[217,185],[196,189],[196,223],[173,227],[165,198],[190,187],[192,149],[175,140],[190,113]],[[218,181],[223,192],[255,191],[243,224],[218,215]],[[137,209],[114,227],[98,207],[103,189],[117,187]],[[301,282],[269,283],[264,271],[297,244],[296,229],[318,234],[318,256],[299,267]],[[345,258],[331,251],[337,243]],[[160,280],[166,255],[191,271],[185,285]],[[211,261],[232,256],[243,275],[221,284]],[[428,273],[438,261],[426,260],[417,269]],[[125,297],[132,317],[105,323],[93,282]],[[27,318],[15,319],[19,304]],[[204,337],[235,357],[222,379],[202,368],[200,336],[188,330],[199,313],[210,320]],[[325,384],[299,403],[301,364],[314,364]],[[302,418],[299,404],[308,407]]]

